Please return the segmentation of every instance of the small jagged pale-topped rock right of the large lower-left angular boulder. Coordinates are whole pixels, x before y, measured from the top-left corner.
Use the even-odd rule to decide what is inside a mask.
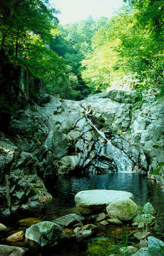
[[[89,236],[92,236],[97,230],[97,226],[94,224],[87,224],[83,226],[82,228],[75,228],[74,233],[77,238],[77,241],[84,240],[85,238],[88,238]]]

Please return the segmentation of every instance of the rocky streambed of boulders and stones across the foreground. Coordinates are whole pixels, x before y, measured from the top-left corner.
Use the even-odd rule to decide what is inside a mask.
[[[87,190],[75,195],[75,205],[76,213],[33,220],[4,239],[1,255],[95,255],[104,245],[108,255],[163,255],[163,226],[151,203],[141,208],[132,193]],[[7,232],[2,224],[0,230]]]

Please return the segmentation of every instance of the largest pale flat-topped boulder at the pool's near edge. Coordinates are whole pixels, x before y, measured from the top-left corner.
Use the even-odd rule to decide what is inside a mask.
[[[83,215],[106,211],[106,206],[117,199],[132,199],[130,192],[118,190],[86,190],[75,195],[75,205]]]

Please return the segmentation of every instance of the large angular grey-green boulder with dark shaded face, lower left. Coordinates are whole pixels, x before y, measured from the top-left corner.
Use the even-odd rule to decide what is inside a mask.
[[[41,247],[45,245],[54,245],[63,238],[66,234],[61,226],[50,221],[43,221],[33,224],[30,228],[26,229],[26,238],[35,241]]]

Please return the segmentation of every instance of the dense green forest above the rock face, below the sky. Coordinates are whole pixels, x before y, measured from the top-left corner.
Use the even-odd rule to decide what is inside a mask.
[[[1,66],[30,70],[64,99],[123,83],[163,95],[163,9],[163,0],[125,0],[110,19],[61,26],[49,0],[1,0]]]

